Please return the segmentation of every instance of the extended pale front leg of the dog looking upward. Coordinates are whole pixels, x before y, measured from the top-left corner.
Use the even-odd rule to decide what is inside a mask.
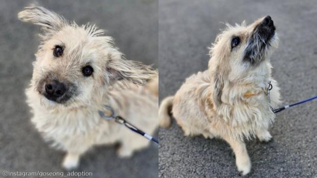
[[[233,140],[230,137],[224,137],[224,140],[230,144],[231,148],[233,149],[236,155],[236,165],[238,171],[242,175],[249,173],[251,170],[251,161],[247,154],[244,142]]]

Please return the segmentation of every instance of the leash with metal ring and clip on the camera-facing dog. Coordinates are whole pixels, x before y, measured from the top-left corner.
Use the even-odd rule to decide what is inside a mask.
[[[111,119],[115,119],[115,121],[119,124],[123,124],[124,126],[128,127],[130,130],[134,131],[135,133],[139,133],[141,136],[145,137],[148,140],[151,140],[157,144],[159,144],[159,141],[157,141],[155,138],[153,138],[152,136],[148,135],[147,133],[145,133],[144,131],[138,129],[137,127],[135,127],[134,125],[130,124],[129,122],[127,122],[125,119],[123,119],[121,116],[116,116],[114,109],[112,109],[112,107],[104,105],[104,107],[108,110],[110,110],[111,115],[110,116],[106,116],[104,114],[104,112],[102,112],[101,110],[98,110],[100,117],[102,117],[105,120],[111,120]]]

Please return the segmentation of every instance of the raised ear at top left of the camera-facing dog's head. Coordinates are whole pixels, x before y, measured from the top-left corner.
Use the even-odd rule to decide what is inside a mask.
[[[41,26],[44,32],[57,32],[68,24],[64,17],[43,7],[26,7],[18,13],[18,18]]]

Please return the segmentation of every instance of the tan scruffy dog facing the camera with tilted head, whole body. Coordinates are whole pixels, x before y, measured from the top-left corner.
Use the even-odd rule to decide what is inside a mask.
[[[153,134],[159,125],[153,95],[157,79],[149,87],[137,85],[146,84],[156,71],[124,60],[111,37],[102,36],[103,30],[95,26],[78,26],[42,7],[27,7],[18,18],[42,30],[27,102],[43,137],[67,151],[64,168],[76,168],[80,155],[93,145],[120,142],[122,157],[149,145],[114,120],[103,120],[98,110],[109,105],[117,115]]]

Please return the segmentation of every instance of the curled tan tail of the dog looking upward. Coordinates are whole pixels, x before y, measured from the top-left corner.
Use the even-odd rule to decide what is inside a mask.
[[[171,125],[170,109],[173,105],[174,96],[169,96],[162,100],[159,108],[159,123],[161,127],[169,127]]]

